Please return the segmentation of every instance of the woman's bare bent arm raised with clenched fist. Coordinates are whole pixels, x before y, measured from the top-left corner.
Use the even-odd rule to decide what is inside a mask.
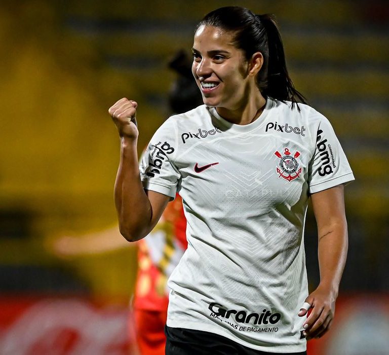
[[[121,141],[114,197],[119,230],[128,241],[145,237],[159,221],[170,199],[169,196],[143,189],[137,155],[136,108],[135,101],[122,98],[108,111],[118,128]]]

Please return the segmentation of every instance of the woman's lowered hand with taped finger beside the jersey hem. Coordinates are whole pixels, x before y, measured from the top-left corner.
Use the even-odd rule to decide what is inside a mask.
[[[331,291],[320,286],[305,299],[312,308],[303,324],[306,340],[320,338],[330,329],[335,314],[335,299]],[[298,315],[302,317],[307,312],[307,309],[301,308]]]

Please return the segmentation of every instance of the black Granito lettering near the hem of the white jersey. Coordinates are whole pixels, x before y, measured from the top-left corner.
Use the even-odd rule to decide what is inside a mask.
[[[249,324],[251,319],[254,319],[253,325],[258,324],[276,324],[281,319],[280,313],[271,313],[267,309],[263,309],[262,313],[250,313],[247,314],[246,311],[238,311],[236,309],[225,309],[224,306],[217,303],[211,303],[208,309],[217,317],[222,317],[228,319],[231,314],[231,318],[235,318],[237,323]]]

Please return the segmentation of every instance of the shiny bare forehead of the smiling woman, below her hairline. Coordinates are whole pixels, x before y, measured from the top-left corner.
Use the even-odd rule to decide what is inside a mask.
[[[226,31],[220,27],[201,25],[195,33],[193,48],[198,49],[198,47],[214,46],[236,49],[234,45],[234,32]]]

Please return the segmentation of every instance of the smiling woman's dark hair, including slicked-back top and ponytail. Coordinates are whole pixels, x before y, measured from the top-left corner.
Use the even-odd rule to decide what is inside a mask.
[[[235,33],[235,46],[244,51],[246,59],[260,52],[263,65],[256,81],[263,96],[282,102],[306,103],[289,77],[284,46],[274,15],[254,15],[249,9],[227,6],[207,14],[198,24],[219,27]],[[300,111],[300,110],[299,110]]]

